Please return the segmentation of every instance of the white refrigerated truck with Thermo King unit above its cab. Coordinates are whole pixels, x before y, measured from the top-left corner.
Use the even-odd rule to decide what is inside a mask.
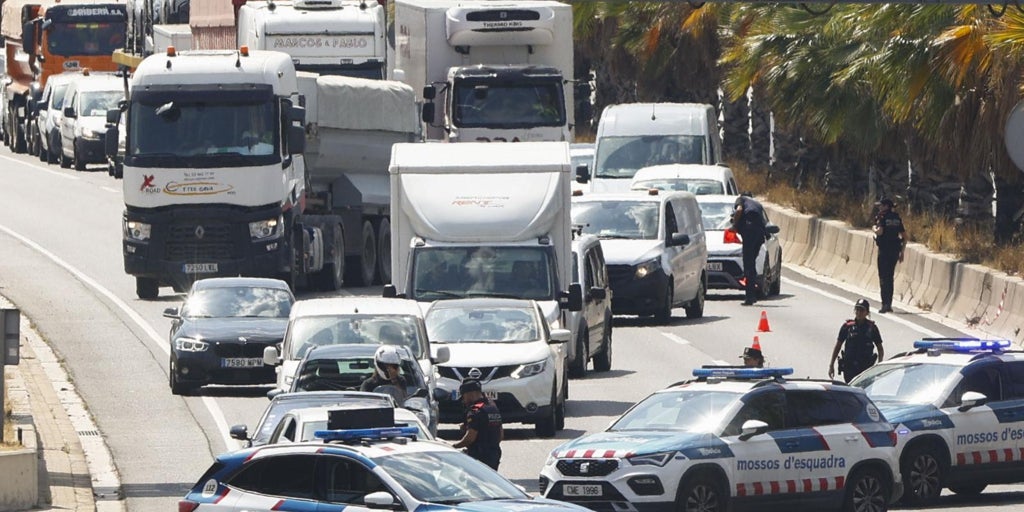
[[[571,140],[569,5],[396,0],[394,12],[391,78],[423,91],[427,138]]]

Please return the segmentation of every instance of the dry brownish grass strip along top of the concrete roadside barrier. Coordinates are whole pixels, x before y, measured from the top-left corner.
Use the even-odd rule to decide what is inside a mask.
[[[786,182],[769,181],[766,172],[755,172],[743,162],[730,162],[741,190],[752,190],[768,201],[797,211],[825,218],[844,220],[858,228],[871,225],[873,202],[828,195],[818,183],[806,183],[801,189]],[[935,212],[907,211],[900,215],[911,242],[919,242],[934,252],[952,254],[967,263],[980,263],[1011,275],[1024,275],[1024,251],[1020,246],[998,246],[991,222],[959,224]]]

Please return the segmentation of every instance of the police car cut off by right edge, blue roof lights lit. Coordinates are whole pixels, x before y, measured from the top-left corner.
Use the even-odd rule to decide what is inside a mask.
[[[1024,481],[1024,352],[976,338],[913,346],[851,382],[896,425],[903,503]]]

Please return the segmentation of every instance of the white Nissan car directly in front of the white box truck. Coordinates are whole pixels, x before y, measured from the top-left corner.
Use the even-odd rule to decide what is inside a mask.
[[[440,403],[441,422],[462,423],[466,413],[459,385],[476,379],[494,399],[502,422],[531,423],[551,437],[565,427],[568,374],[565,342],[571,333],[548,330],[532,300],[471,298],[435,301],[426,314],[430,342],[450,349],[437,366],[439,388],[453,400]]]

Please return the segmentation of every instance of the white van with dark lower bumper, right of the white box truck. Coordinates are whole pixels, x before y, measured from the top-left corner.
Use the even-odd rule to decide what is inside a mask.
[[[591,194],[572,198],[572,224],[601,239],[614,314],[653,315],[672,308],[703,315],[708,245],[696,196],[685,191]]]

